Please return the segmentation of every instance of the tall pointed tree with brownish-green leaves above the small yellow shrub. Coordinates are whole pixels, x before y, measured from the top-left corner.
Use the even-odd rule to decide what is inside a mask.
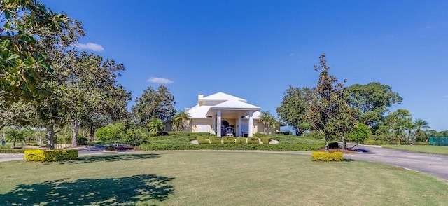
[[[321,71],[314,88],[316,97],[312,100],[307,112],[307,119],[315,130],[325,134],[325,151],[328,152],[328,141],[351,132],[356,126],[354,111],[345,101],[344,85],[337,78],[328,74],[330,67],[325,54],[319,58],[319,65],[314,66]]]

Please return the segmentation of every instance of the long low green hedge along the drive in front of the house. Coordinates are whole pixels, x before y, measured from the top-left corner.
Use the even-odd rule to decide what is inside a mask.
[[[274,150],[274,151],[317,151],[325,144],[141,144],[142,150]]]

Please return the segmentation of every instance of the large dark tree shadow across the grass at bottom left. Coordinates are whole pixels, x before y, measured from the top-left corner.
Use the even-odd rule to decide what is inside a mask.
[[[38,184],[20,184],[0,194],[5,205],[135,205],[158,204],[174,192],[167,184],[174,178],[155,174],[108,179],[58,179]]]

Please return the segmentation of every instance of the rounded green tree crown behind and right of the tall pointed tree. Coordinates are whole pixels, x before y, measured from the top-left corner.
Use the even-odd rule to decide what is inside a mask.
[[[393,92],[391,86],[381,85],[379,82],[354,84],[345,91],[349,105],[357,111],[357,120],[370,128],[383,120],[388,107],[402,102],[402,97]]]

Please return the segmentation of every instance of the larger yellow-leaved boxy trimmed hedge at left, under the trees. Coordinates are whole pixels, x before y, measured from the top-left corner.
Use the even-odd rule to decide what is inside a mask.
[[[38,162],[55,162],[78,159],[78,150],[27,150],[25,160]]]

